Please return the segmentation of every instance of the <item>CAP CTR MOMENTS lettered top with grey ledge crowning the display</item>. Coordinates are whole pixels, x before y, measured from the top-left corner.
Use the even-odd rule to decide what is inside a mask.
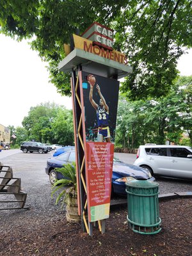
[[[72,35],[71,45],[64,44],[65,58],[58,68],[71,72],[81,65],[85,72],[118,79],[132,73],[132,67],[123,52],[113,49],[113,29],[94,22],[84,33]]]

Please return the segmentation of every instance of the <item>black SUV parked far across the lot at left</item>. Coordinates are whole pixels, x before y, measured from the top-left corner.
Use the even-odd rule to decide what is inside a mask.
[[[20,145],[20,150],[24,153],[30,153],[33,152],[39,152],[40,154],[45,153],[47,154],[48,149],[45,145],[43,145],[40,142],[35,142],[35,141],[25,141]]]

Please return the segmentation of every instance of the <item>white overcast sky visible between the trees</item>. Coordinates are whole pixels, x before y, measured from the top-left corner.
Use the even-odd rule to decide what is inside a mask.
[[[180,75],[191,76],[192,50],[180,58]],[[55,102],[72,109],[69,97],[61,97],[49,83],[49,72],[26,41],[0,35],[0,124],[22,126],[31,106]],[[70,81],[68,81],[70,83]]]

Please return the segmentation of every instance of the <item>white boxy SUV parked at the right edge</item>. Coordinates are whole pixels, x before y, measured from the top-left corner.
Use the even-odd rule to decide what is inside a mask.
[[[192,179],[192,148],[172,145],[143,145],[138,149],[134,165],[152,175]]]

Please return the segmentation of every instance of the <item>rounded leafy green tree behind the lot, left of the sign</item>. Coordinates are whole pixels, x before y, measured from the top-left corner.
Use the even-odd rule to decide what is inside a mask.
[[[72,123],[71,110],[49,102],[31,107],[22,121],[28,131],[28,140],[61,144],[73,144]]]

